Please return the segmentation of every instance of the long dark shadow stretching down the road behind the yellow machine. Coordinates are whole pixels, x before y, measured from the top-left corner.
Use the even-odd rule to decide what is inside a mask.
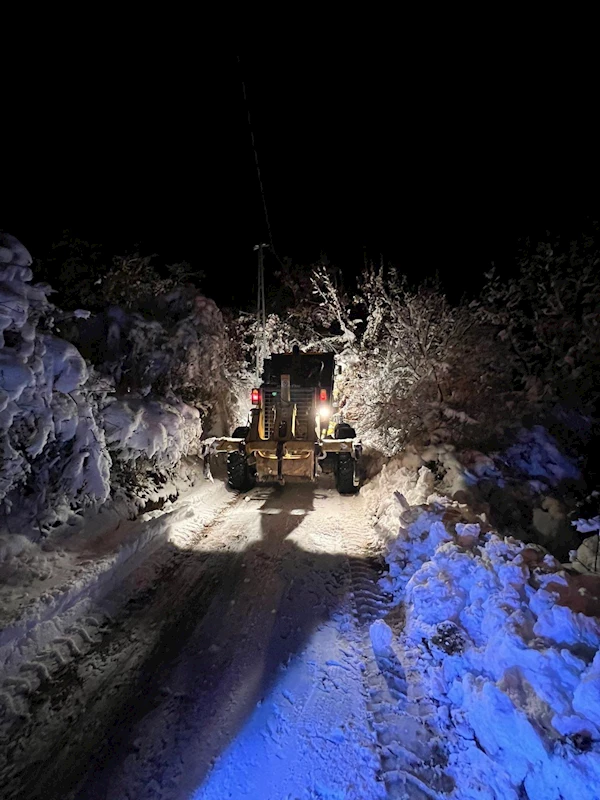
[[[310,552],[298,530],[318,493],[256,490],[246,506],[259,504],[260,539],[237,554],[179,551],[177,569],[131,601],[140,641],[160,627],[131,680],[77,707],[76,730],[15,796],[144,800],[158,784],[161,797],[200,798],[214,760],[347,594],[346,557]]]

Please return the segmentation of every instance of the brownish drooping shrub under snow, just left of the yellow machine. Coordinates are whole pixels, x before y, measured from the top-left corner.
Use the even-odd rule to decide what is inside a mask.
[[[108,306],[60,324],[113,381],[117,396],[186,403],[219,433],[239,423],[238,398],[249,392],[237,344],[214,301],[192,285],[140,301],[135,310]]]

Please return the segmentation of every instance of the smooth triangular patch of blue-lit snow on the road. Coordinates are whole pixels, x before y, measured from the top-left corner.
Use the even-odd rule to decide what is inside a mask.
[[[194,800],[384,800],[360,644],[346,612],[320,625]]]

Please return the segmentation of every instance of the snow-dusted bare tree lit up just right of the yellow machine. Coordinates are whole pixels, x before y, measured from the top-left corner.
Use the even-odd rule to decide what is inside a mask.
[[[473,441],[493,432],[515,397],[504,348],[471,308],[452,306],[435,284],[411,289],[395,270],[373,267],[357,302],[364,327],[341,387],[344,413],[365,441],[393,454],[415,437]]]

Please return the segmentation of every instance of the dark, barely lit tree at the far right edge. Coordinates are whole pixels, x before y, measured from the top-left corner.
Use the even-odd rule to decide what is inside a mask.
[[[600,394],[600,251],[593,237],[526,242],[516,277],[490,271],[479,315],[509,348],[532,407],[590,412]]]

